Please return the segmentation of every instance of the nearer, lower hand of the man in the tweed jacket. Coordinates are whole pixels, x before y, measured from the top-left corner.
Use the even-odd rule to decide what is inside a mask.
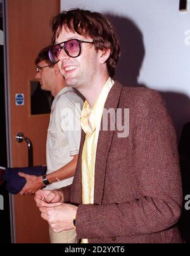
[[[74,228],[73,219],[76,217],[77,208],[69,203],[51,203],[39,209],[42,212],[41,217],[49,223],[54,232],[59,233]]]

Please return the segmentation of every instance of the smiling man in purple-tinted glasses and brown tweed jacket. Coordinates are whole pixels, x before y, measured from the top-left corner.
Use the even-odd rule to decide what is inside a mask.
[[[182,243],[177,144],[160,94],[112,79],[120,46],[105,16],[63,11],[52,27],[49,58],[86,101],[73,184],[35,193],[42,218],[55,232],[76,229],[82,243]]]

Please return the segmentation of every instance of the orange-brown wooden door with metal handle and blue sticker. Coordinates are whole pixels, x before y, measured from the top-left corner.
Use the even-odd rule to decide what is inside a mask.
[[[51,42],[51,16],[60,11],[60,0],[6,0],[6,35],[9,78],[9,153],[12,167],[28,165],[27,144],[16,142],[23,132],[33,143],[34,165],[46,163],[49,115],[31,115],[30,80],[35,80],[35,57]],[[16,106],[15,95],[24,94]],[[15,243],[49,243],[47,222],[34,196],[13,196]]]

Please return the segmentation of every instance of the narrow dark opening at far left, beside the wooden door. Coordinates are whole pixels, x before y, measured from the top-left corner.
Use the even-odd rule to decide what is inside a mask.
[[[0,3],[0,30],[3,31],[3,5]],[[2,35],[2,33],[1,33]],[[6,148],[6,117],[4,96],[4,46],[0,44],[0,166],[7,167]],[[5,186],[0,186],[0,195],[3,196],[3,210],[0,210],[0,243],[11,243],[9,195]]]

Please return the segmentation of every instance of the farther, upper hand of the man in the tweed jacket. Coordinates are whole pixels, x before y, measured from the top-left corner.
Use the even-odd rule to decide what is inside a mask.
[[[63,193],[57,190],[39,190],[34,199],[37,207],[49,207],[50,203],[63,203]]]

